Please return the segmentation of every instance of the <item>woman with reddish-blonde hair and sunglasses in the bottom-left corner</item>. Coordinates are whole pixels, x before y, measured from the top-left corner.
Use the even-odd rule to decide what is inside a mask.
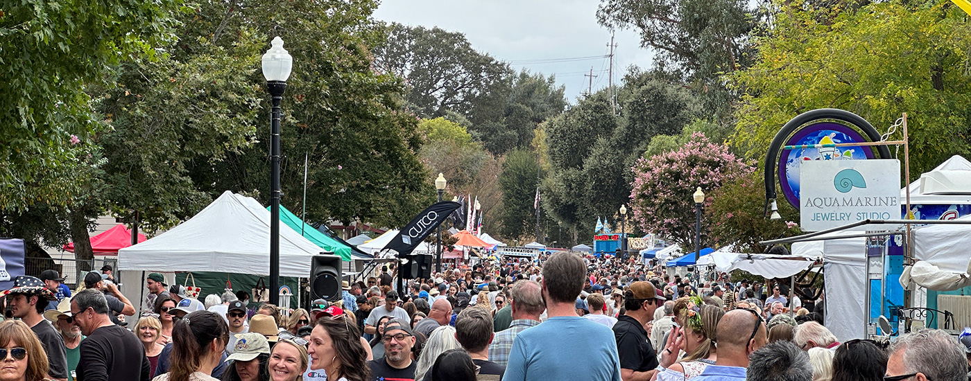
[[[0,379],[50,381],[48,355],[37,335],[19,320],[0,322]]]

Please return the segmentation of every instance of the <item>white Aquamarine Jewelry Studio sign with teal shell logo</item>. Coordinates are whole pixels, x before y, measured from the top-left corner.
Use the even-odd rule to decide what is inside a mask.
[[[799,167],[800,225],[818,232],[866,219],[900,219],[899,160],[813,160]],[[873,230],[861,226],[858,230]]]

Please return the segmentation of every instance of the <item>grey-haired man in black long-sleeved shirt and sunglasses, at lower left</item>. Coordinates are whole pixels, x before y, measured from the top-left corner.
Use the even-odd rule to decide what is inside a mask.
[[[148,381],[149,358],[135,333],[112,323],[105,295],[86,289],[71,300],[74,324],[87,337],[81,342],[78,381]]]

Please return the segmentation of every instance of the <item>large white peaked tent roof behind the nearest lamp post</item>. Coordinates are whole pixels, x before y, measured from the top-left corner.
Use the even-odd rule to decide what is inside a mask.
[[[280,274],[307,277],[321,249],[280,229]],[[270,273],[270,211],[226,191],[172,230],[118,250],[118,270]]]

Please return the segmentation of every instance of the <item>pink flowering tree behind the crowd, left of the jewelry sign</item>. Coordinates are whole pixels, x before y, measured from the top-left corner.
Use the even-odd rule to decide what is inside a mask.
[[[754,168],[728,151],[724,144],[712,143],[696,132],[681,148],[641,158],[633,167],[630,194],[633,221],[647,232],[674,240],[694,251],[694,201],[697,187],[705,192],[704,209],[711,206],[712,193],[722,184],[752,174]],[[711,221],[702,214],[702,247],[708,240]]]

